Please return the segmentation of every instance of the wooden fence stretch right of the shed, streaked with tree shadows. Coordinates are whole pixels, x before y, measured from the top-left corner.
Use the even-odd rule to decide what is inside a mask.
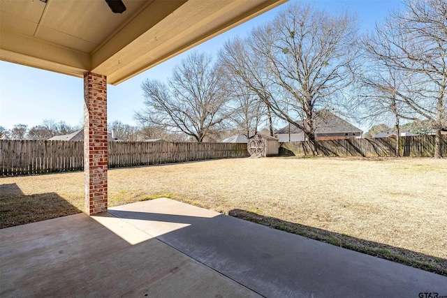
[[[434,135],[400,137],[400,155],[413,157],[434,156]],[[396,137],[374,139],[343,139],[316,141],[317,154],[324,156],[395,156]],[[441,151],[447,156],[447,135],[442,135]],[[281,143],[279,154],[293,153],[295,156],[312,155],[309,141]]]

